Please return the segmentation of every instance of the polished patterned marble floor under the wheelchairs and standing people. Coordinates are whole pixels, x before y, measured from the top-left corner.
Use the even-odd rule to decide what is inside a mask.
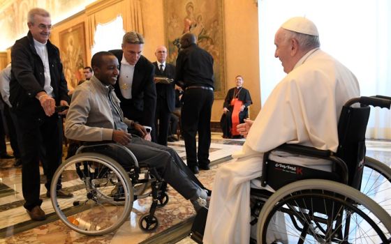
[[[230,155],[233,151],[237,151],[243,142],[243,139],[229,140],[222,139],[220,134],[213,135],[210,151],[212,169],[200,171],[198,174],[198,178],[205,186],[212,187],[216,170],[232,159]],[[169,146],[175,148],[186,160],[183,141],[170,143]],[[390,166],[391,142],[367,141],[367,155]],[[84,236],[72,231],[57,218],[50,199],[44,196],[45,187],[41,185],[42,208],[49,217],[44,222],[33,222],[22,206],[24,201],[21,190],[21,169],[13,167],[13,162],[14,160],[0,160],[0,243],[140,243],[195,215],[191,203],[169,188],[170,201],[156,211],[160,225],[153,233],[144,233],[138,227],[138,219],[149,211],[151,204],[149,199],[140,199],[135,201],[129,220],[117,231],[105,236]],[[179,243],[194,242],[190,238],[184,238]]]

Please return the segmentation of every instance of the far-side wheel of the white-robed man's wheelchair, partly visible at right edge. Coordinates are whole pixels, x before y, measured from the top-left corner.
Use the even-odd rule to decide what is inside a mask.
[[[360,191],[391,215],[391,168],[374,158],[365,157]]]

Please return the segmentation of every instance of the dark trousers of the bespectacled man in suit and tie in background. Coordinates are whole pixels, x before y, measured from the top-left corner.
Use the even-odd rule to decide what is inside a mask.
[[[170,124],[170,114],[167,102],[165,100],[157,100],[155,113],[155,135],[157,143],[167,146],[168,125]]]

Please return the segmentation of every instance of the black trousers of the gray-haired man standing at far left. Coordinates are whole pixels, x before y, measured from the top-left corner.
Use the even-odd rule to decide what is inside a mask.
[[[40,113],[42,114],[42,113]],[[39,160],[46,164],[45,187],[50,190],[54,172],[61,164],[62,125],[58,114],[48,117],[30,112],[17,112],[17,121],[22,133],[22,192],[26,203],[24,208],[31,210],[40,206]],[[57,185],[61,189],[61,184]]]

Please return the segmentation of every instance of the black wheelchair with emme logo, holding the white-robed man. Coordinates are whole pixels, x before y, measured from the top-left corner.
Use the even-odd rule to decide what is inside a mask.
[[[346,102],[337,153],[294,144],[272,150],[329,160],[330,172],[275,162],[272,151],[265,153],[258,180],[276,192],[251,188],[251,225],[257,225],[250,243],[391,243],[391,168],[365,157],[369,106],[390,105],[385,96]],[[206,215],[200,211],[193,223],[191,238],[198,243]]]

